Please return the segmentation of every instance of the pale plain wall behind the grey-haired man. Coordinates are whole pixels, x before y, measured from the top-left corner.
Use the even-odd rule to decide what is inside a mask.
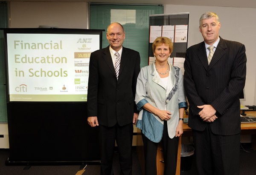
[[[219,34],[227,40],[243,43],[247,55],[247,76],[244,105],[256,105],[256,9],[165,5],[165,14],[189,12],[188,47],[203,41],[199,32],[199,18],[206,11],[218,14],[221,22]]]

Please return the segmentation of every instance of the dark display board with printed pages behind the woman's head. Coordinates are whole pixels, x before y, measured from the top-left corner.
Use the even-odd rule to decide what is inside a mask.
[[[188,30],[189,12],[175,14],[157,14],[149,16],[149,49],[148,65],[154,62],[152,44],[157,37],[168,37],[173,42],[173,52],[168,61],[173,66],[178,66],[184,73],[183,63],[185,61]]]

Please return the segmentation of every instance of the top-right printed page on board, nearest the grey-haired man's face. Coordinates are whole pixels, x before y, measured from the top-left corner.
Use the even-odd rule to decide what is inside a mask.
[[[188,38],[188,25],[175,25],[175,43],[186,43]]]

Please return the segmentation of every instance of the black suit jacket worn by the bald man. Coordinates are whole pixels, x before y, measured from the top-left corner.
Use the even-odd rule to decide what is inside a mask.
[[[97,116],[100,125],[124,126],[132,123],[140,54],[122,48],[118,81],[109,46],[90,55],[87,116]]]

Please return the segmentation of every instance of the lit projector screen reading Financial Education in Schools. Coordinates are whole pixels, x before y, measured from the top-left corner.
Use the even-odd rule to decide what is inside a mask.
[[[5,30],[7,101],[87,101],[90,53],[102,30]]]

